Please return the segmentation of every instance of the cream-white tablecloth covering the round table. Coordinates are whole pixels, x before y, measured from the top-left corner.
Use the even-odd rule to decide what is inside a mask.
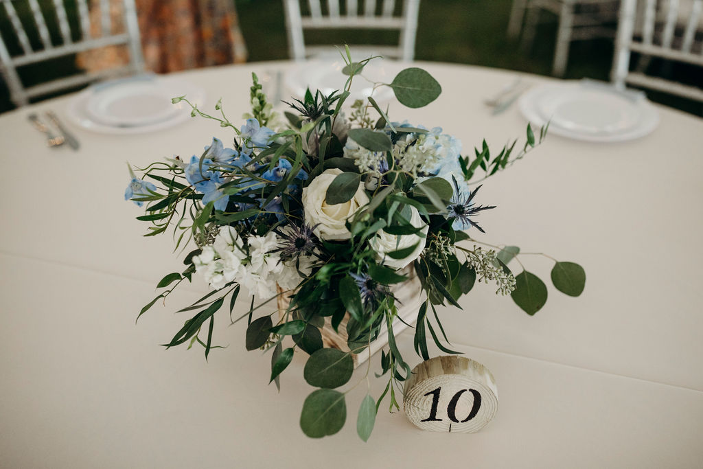
[[[206,108],[222,97],[234,120],[247,110],[252,70],[289,66],[181,76],[205,86]],[[464,153],[484,137],[495,149],[524,138],[517,108],[492,117],[482,104],[514,73],[420,66],[443,93],[419,110],[392,103],[392,118],[441,126]],[[214,340],[228,348],[207,363],[202,349],[164,352],[159,344],[186,319],[174,311],[205,293],[201,282],[134,324],[182,255],[170,236],[141,236],[142,212],[123,200],[125,162],[190,158],[231,134],[202,119],[134,136],[73,127],[81,150],[46,148],[26,116],[61,113],[69,100],[0,116],[0,467],[700,467],[703,120],[659,107],[659,127],[637,141],[548,136],[486,181],[478,202],[498,208],[480,215],[486,235],[472,234],[579,262],[586,290],[571,298],[548,286],[546,307],[529,317],[477,284],[463,310],[439,313],[453,346],[494,373],[496,418],[474,435],[433,434],[380,411],[364,444],[355,422],[366,385],[349,393],[340,434],[309,439],[298,426],[312,390],[304,357],[279,394],[266,385],[269,355],[245,351],[244,324],[215,323]],[[549,285],[552,262],[524,262]],[[399,347],[411,366],[421,361],[410,331]],[[371,380],[374,396],[383,387]]]

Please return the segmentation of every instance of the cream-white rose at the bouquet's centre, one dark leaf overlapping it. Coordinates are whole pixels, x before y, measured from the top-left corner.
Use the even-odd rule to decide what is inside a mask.
[[[335,180],[337,174],[342,174],[341,169],[326,169],[322,174],[312,180],[309,186],[303,188],[302,202],[305,212],[305,222],[309,226],[316,226],[315,234],[322,239],[349,239],[352,233],[344,226],[344,222],[359,210],[359,207],[368,204],[368,195],[363,191],[363,184],[359,184],[352,200],[328,205],[325,201],[327,188]]]

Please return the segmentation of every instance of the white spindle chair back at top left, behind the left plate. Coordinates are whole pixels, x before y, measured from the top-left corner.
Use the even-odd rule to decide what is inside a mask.
[[[69,6],[75,8],[75,13]],[[44,8],[37,0],[0,0],[4,7],[12,31],[6,32],[8,41],[17,44],[19,53],[11,55],[6,39],[0,37],[0,72],[10,89],[10,97],[15,105],[29,103],[30,98],[53,93],[62,89],[72,88],[96,81],[105,77],[134,74],[143,72],[143,58],[139,28],[136,18],[134,0],[120,0],[121,5],[110,0],[100,0],[100,25],[91,28],[87,0],[42,1]],[[124,31],[116,31],[112,25],[110,8],[122,8],[124,14]],[[72,15],[69,14],[74,13]],[[73,16],[77,18],[73,18]],[[69,20],[71,16],[71,20]],[[75,21],[72,21],[74,20]],[[60,39],[54,41],[50,34],[51,25],[58,30]],[[74,26],[72,28],[72,25]],[[99,34],[93,34],[95,31]],[[77,38],[77,39],[76,39]],[[129,49],[130,62],[118,68],[101,70],[100,72],[79,72],[69,77],[53,79],[36,86],[25,87],[18,74],[18,68],[25,65],[44,62],[61,56],[69,56],[91,49],[101,49],[106,46],[124,44]]]

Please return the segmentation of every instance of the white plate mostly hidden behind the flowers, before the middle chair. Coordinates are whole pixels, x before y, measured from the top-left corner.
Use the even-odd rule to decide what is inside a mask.
[[[346,65],[342,58],[300,63],[286,74],[285,84],[296,98],[305,96],[308,87],[313,94],[319,89],[326,96],[335,90],[344,89],[347,75],[342,73],[342,69]],[[390,83],[404,68],[408,68],[408,65],[394,60],[381,58],[371,60],[363,68],[361,75],[355,75],[352,79],[352,88],[349,89],[347,102],[352,103],[356,99],[365,99],[368,96],[373,96],[375,101],[379,102],[393,98],[394,94],[390,86],[378,86],[374,89],[374,83]]]

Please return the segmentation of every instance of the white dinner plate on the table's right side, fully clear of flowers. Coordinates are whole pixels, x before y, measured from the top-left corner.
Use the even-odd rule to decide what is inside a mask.
[[[659,113],[639,91],[579,80],[543,84],[520,98],[532,124],[549,122],[550,133],[584,141],[627,141],[650,134]]]

